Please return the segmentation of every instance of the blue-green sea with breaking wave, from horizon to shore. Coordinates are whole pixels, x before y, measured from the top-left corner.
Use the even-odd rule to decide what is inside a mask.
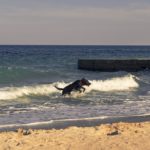
[[[150,114],[150,70],[79,70],[81,58],[150,59],[150,46],[1,45],[0,126]],[[81,78],[84,93],[55,88]]]

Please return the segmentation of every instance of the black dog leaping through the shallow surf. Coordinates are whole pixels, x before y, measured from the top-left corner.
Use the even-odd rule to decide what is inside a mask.
[[[62,90],[62,95],[65,94],[70,94],[72,91],[79,91],[80,93],[82,92],[81,89],[83,89],[83,92],[85,91],[85,86],[89,86],[91,83],[87,79],[81,79],[81,80],[76,80],[75,82],[69,84],[68,86],[64,88],[59,88],[55,86],[58,90]]]

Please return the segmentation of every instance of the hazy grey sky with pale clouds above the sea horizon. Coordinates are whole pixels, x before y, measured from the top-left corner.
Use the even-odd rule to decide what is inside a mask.
[[[150,0],[0,0],[0,44],[150,45]]]

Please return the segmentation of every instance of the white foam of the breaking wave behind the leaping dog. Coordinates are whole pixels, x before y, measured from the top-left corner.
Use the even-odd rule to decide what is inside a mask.
[[[133,75],[127,75],[124,77],[111,78],[108,80],[92,80],[91,85],[86,87],[86,93],[95,91],[125,91],[138,87],[138,83],[135,81]],[[17,99],[23,96],[29,95],[45,95],[49,96],[53,93],[60,93],[54,85],[58,87],[65,87],[70,83],[56,82],[53,84],[42,84],[36,86],[23,86],[23,87],[7,87],[0,89],[0,100]],[[74,96],[82,96],[83,94],[76,92]]]

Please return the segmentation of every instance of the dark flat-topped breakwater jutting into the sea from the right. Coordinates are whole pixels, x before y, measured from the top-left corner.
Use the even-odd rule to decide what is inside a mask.
[[[92,71],[139,71],[150,69],[150,59],[79,59],[78,69]]]

